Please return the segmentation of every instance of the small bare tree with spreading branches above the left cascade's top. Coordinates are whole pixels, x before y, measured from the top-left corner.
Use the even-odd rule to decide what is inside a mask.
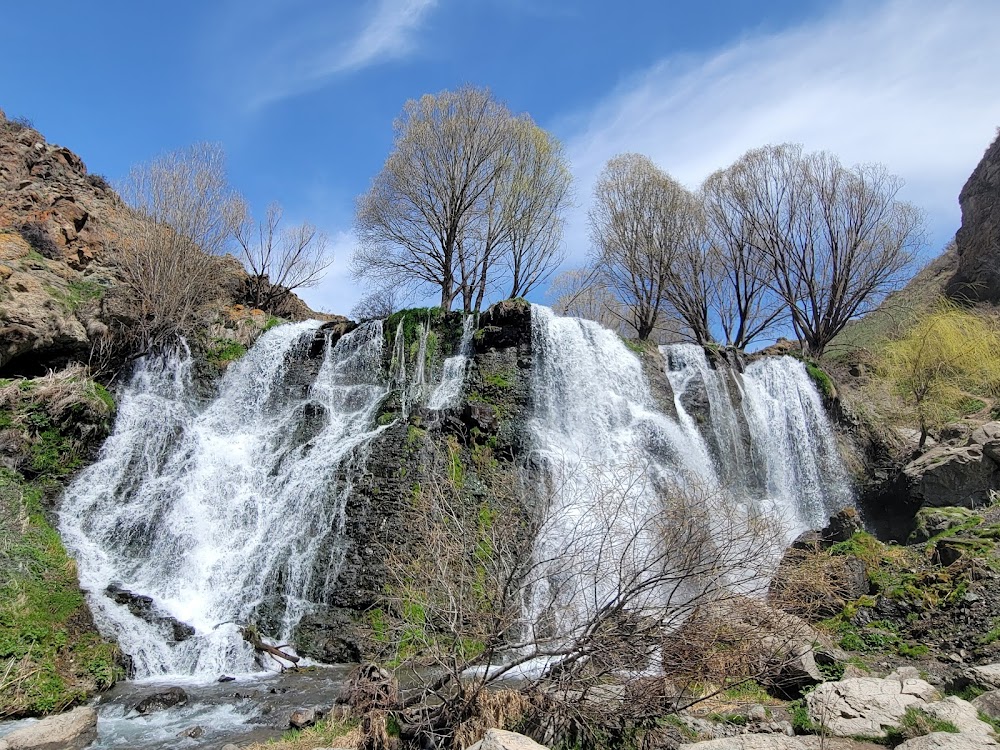
[[[254,307],[267,311],[295,289],[314,286],[333,263],[325,234],[309,223],[279,227],[283,215],[281,206],[272,203],[257,222],[244,204],[232,227],[250,273],[248,296]]]

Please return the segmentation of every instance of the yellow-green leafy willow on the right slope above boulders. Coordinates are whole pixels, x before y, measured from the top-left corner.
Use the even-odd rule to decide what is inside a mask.
[[[941,301],[879,356],[879,374],[920,428],[960,415],[962,401],[1000,396],[1000,327],[993,319]]]

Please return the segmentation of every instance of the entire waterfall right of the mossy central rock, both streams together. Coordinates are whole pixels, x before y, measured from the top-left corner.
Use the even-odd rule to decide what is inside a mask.
[[[760,593],[791,536],[850,502],[801,362],[761,360],[741,386],[701,348],[664,347],[675,420],[639,358],[598,324],[534,306],[532,346],[543,522],[525,619],[536,643],[565,643],[625,601],[669,627],[712,587]]]

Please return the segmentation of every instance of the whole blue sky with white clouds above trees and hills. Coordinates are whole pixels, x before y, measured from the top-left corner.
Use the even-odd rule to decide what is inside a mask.
[[[111,180],[221,143],[258,209],[331,237],[303,296],[347,313],[355,197],[423,93],[489,86],[566,144],[585,259],[596,174],[651,156],[695,187],[765,143],[881,161],[927,212],[928,255],[1000,125],[995,0],[121,0],[4,8],[0,107]]]

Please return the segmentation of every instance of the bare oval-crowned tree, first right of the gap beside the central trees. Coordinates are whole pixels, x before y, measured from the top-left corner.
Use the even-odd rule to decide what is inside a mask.
[[[589,218],[595,265],[640,340],[649,338],[666,304],[687,222],[685,193],[641,154],[611,159],[594,189]]]

